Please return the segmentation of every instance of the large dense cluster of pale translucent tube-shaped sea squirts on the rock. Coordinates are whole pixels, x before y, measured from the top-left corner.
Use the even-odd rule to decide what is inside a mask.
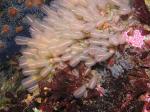
[[[69,65],[75,69],[84,62],[90,70],[107,60],[116,46],[125,43],[123,32],[128,26],[138,24],[130,14],[129,0],[54,0],[42,10],[47,13],[43,21],[28,17],[32,38],[16,39],[17,44],[27,46],[20,67],[28,76],[23,85],[30,91],[38,89],[40,80],[51,81],[56,68]],[[122,20],[122,15],[129,17]]]

